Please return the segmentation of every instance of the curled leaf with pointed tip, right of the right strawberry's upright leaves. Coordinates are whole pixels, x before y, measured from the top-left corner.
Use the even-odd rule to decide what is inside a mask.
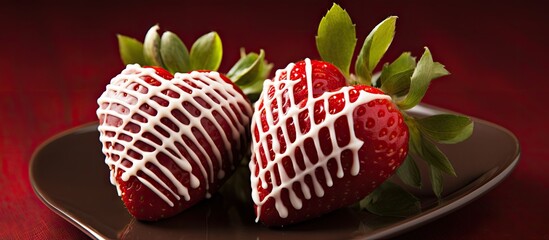
[[[444,65],[433,62],[431,52],[428,48],[425,48],[425,52],[421,56],[421,59],[419,59],[417,67],[412,74],[408,94],[403,100],[397,102],[400,109],[407,110],[417,105],[421,102],[423,96],[425,96],[425,92],[427,92],[431,81],[448,74],[450,73],[444,68]]]

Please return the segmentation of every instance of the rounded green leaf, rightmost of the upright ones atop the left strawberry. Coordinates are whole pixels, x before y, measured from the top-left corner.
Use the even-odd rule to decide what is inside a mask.
[[[191,68],[193,70],[217,71],[223,57],[221,38],[210,32],[198,38],[191,47]]]

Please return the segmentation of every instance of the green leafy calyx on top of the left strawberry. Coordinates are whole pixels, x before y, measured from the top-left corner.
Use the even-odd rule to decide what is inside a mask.
[[[120,56],[124,64],[162,67],[172,74],[194,70],[218,71],[223,57],[223,45],[216,32],[199,37],[190,51],[181,39],[172,32],[158,33],[159,26],[149,29],[143,42],[117,35]],[[253,102],[257,100],[263,81],[267,79],[272,64],[265,60],[265,52],[245,53],[226,76],[231,79]]]

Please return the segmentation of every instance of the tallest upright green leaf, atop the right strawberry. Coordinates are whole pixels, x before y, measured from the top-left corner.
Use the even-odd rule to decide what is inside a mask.
[[[355,46],[355,25],[347,11],[334,3],[318,25],[318,53],[322,60],[332,63],[349,77]]]

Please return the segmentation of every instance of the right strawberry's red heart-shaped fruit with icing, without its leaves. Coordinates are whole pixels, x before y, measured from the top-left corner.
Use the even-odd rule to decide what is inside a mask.
[[[342,87],[339,77],[319,86],[315,76],[341,75],[319,66],[306,60],[279,70],[256,105],[252,198],[257,219],[269,226],[355,203],[391,176],[408,152],[408,128],[389,96],[364,85]],[[298,101],[287,101],[292,97]]]

